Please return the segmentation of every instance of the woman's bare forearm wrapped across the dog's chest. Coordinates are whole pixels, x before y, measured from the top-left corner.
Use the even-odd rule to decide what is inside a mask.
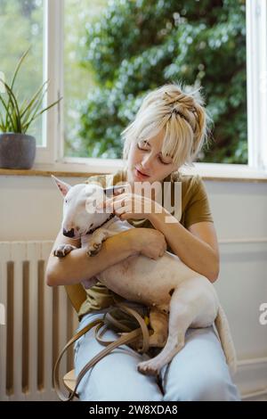
[[[80,246],[80,242],[63,236],[61,232],[53,244],[53,250],[60,244]],[[47,262],[46,283],[52,286],[70,285],[90,279],[134,254],[142,253],[151,259],[158,259],[166,251],[166,240],[164,234],[153,228],[131,228],[109,237],[102,243],[101,251],[90,258],[85,248],[71,251],[64,258],[54,256],[53,250]]]

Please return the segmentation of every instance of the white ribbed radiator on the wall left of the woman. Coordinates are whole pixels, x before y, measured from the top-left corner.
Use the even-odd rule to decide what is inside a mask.
[[[0,242],[0,400],[55,400],[53,365],[74,329],[64,287],[44,283],[53,242]],[[61,374],[72,369],[73,354]]]

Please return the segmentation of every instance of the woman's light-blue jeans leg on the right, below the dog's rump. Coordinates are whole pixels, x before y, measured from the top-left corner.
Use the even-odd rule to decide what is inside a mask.
[[[184,348],[161,370],[165,401],[235,401],[231,380],[214,328],[189,329]]]

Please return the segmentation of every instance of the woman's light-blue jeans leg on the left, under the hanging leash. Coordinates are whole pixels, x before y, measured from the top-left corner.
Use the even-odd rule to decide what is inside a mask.
[[[87,315],[80,327],[101,318],[102,314]],[[76,374],[85,364],[98,354],[104,347],[94,338],[94,329],[86,333],[76,345],[75,366]],[[104,333],[104,340],[117,340],[117,333],[109,330]],[[137,365],[149,359],[127,347],[126,345],[114,349],[108,356],[103,357],[85,375],[78,393],[81,400],[94,401],[142,401],[162,399],[155,377],[148,377],[138,373]]]

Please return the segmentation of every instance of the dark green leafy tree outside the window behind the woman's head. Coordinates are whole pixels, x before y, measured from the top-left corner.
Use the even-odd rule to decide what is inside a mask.
[[[120,132],[167,82],[203,86],[214,119],[201,161],[247,163],[245,0],[117,0],[86,32],[93,74],[80,104],[84,156],[120,158]]]

